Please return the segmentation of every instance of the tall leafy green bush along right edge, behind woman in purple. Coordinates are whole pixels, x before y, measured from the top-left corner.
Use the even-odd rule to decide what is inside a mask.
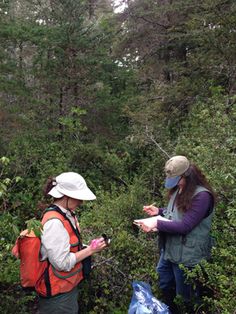
[[[208,311],[227,314],[236,308],[230,297],[236,289],[236,107],[235,99],[224,96],[220,88],[212,93],[192,108],[176,153],[186,154],[203,169],[218,196],[212,231],[216,247],[212,261],[204,263],[204,271],[197,268],[196,276],[211,291],[205,296]]]

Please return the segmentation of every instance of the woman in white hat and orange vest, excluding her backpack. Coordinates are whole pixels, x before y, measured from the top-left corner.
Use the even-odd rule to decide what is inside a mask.
[[[41,260],[47,260],[48,266],[36,285],[39,313],[77,314],[77,289],[85,276],[84,261],[102,251],[106,242],[98,238],[83,247],[75,209],[83,201],[95,200],[96,196],[75,172],[49,179],[45,194],[54,201],[42,219]]]

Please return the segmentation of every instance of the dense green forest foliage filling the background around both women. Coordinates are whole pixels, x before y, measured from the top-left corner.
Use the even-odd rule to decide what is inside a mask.
[[[48,176],[68,170],[97,195],[78,212],[84,241],[112,238],[81,285],[81,312],[127,313],[133,280],[160,297],[156,235],[132,221],[166,204],[164,163],[184,154],[218,198],[212,260],[189,274],[205,291],[196,313],[234,313],[235,1],[124,0],[121,13],[111,2],[0,3],[0,311],[36,312],[11,248],[40,219]]]

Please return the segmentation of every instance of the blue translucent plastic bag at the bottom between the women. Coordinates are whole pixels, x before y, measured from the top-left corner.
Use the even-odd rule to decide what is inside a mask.
[[[168,306],[157,300],[148,283],[134,281],[128,314],[171,314]]]

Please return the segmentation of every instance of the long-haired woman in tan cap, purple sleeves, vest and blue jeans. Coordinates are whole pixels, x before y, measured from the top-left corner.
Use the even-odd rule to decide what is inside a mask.
[[[161,215],[168,220],[157,220],[149,227],[141,224],[141,228],[145,232],[159,231],[162,239],[157,265],[159,287],[163,300],[177,313],[173,303],[176,295],[182,296],[186,306],[194,298],[199,302],[199,291],[186,283],[179,265],[191,269],[209,258],[215,196],[203,173],[185,156],[170,158],[165,164],[165,173],[165,187],[169,189],[167,208],[151,205],[143,209],[150,216]]]

